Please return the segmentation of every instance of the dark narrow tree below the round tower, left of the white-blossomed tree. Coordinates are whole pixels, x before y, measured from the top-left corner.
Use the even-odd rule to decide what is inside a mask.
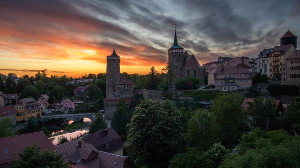
[[[126,134],[126,125],[130,122],[131,112],[122,100],[116,106],[116,110],[111,118],[111,127],[119,134]]]

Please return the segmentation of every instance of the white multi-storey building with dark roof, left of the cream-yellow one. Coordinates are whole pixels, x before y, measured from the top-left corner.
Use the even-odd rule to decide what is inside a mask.
[[[256,72],[265,74],[267,77],[270,77],[270,61],[269,55],[272,52],[273,48],[263,49],[259,52],[258,57],[256,58]]]

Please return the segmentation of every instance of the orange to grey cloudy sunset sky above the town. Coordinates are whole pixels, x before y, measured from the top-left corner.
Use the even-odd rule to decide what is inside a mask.
[[[174,24],[200,64],[258,55],[289,29],[300,36],[300,0],[1,0],[0,73],[79,77],[105,72],[113,48],[121,72],[160,71]],[[298,37],[299,43],[300,37]]]

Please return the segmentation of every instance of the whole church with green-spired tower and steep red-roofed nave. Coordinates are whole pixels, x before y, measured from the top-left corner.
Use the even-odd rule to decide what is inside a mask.
[[[189,55],[178,45],[175,30],[173,45],[167,50],[169,70],[172,69],[171,88],[175,88],[177,79],[193,76],[199,81],[204,80],[204,69],[200,66],[193,54]]]

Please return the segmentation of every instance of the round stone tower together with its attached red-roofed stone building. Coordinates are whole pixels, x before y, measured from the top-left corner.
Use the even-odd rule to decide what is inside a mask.
[[[134,83],[120,76],[120,57],[113,49],[112,54],[106,56],[106,98],[103,101],[106,119],[111,119],[116,105],[123,100],[130,104],[133,96]]]

